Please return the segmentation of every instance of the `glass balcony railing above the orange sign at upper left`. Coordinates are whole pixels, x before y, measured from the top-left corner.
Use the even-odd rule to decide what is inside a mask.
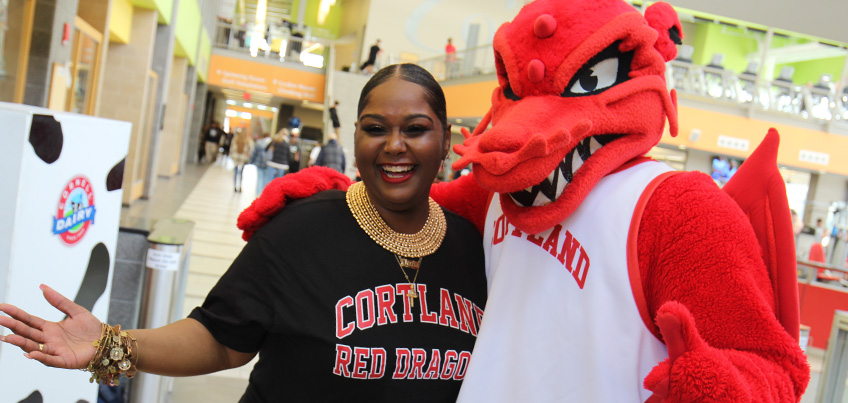
[[[223,21],[216,25],[213,47],[319,69],[325,67],[327,55],[327,41],[322,39],[304,38],[288,30],[257,32],[247,26]]]

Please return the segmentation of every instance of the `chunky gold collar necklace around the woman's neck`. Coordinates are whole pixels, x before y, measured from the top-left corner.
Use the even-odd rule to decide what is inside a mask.
[[[406,258],[424,257],[438,250],[445,239],[445,214],[432,198],[427,222],[424,223],[424,228],[414,234],[403,234],[389,227],[371,203],[362,182],[350,186],[346,199],[350,212],[365,233],[374,242],[396,255]]]

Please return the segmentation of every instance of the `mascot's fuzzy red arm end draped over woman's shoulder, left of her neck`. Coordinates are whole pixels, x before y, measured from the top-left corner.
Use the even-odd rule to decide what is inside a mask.
[[[314,166],[294,174],[274,179],[262,194],[239,214],[237,225],[242,238],[247,241],[253,233],[279,214],[286,202],[303,199],[330,190],[347,190],[351,180],[335,169]]]

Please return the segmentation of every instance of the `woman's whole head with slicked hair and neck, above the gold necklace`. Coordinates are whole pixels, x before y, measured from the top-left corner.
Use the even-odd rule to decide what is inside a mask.
[[[407,233],[426,220],[430,184],[450,146],[444,94],[413,66],[381,70],[363,88],[354,138],[356,165],[375,207]]]

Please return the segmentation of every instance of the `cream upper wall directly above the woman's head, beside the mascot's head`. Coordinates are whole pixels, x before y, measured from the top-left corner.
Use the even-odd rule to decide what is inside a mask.
[[[419,60],[443,55],[447,38],[458,50],[467,48],[466,31],[480,25],[477,44],[491,44],[498,27],[512,20],[521,0],[371,0],[360,63],[377,39],[384,56],[415,53]],[[388,61],[387,61],[388,62]]]

